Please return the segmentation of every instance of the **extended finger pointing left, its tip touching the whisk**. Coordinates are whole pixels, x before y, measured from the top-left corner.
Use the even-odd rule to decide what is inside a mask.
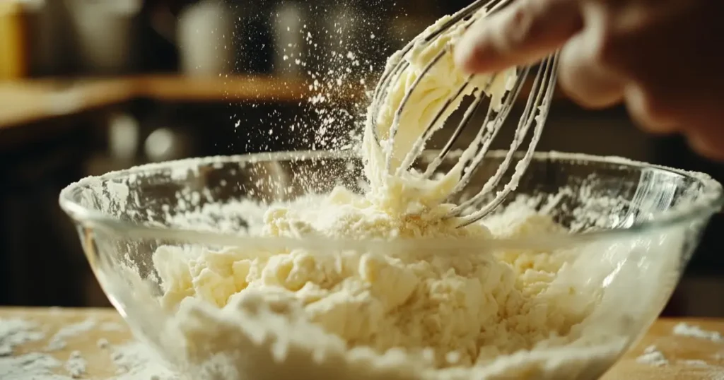
[[[518,0],[475,22],[455,46],[455,62],[479,73],[531,64],[580,29],[576,0]]]

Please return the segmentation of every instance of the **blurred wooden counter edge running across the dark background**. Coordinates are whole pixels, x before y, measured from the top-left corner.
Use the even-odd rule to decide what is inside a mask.
[[[338,91],[340,99],[363,98],[353,86]],[[53,117],[113,106],[137,98],[154,101],[243,102],[304,101],[308,83],[268,76],[184,77],[153,75],[85,80],[19,80],[0,82],[0,132]]]

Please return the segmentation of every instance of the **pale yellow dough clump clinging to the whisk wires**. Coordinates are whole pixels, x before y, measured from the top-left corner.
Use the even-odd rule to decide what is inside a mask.
[[[484,12],[484,9],[480,12]],[[442,17],[422,35],[439,29],[441,25],[449,22],[450,18]],[[399,77],[393,77],[390,81],[379,106],[375,107],[374,103],[370,106],[363,137],[363,156],[367,162],[365,174],[371,185],[367,197],[374,199],[375,203],[389,213],[414,213],[421,209],[436,208],[450,195],[460,180],[464,159],[450,172],[434,180],[422,179],[417,173],[406,170],[395,173],[427,127],[432,125],[433,131],[439,130],[463,102],[463,96],[484,90],[487,91],[490,107],[500,109],[506,90],[515,81],[515,69],[473,77],[460,72],[453,62],[450,47],[464,31],[461,25],[450,28],[433,41],[420,41],[413,46],[411,53],[403,54],[403,51],[398,51],[387,61],[387,70],[391,70],[401,60],[405,60],[408,65],[400,72]],[[446,53],[425,72],[426,67],[442,52]],[[424,76],[421,77],[423,73]],[[470,85],[455,98],[455,94],[468,80]],[[413,86],[415,87],[411,90]],[[405,96],[409,98],[403,106]],[[452,98],[455,98],[455,101],[445,107],[446,102]],[[402,112],[396,116],[398,109],[402,109]],[[435,117],[443,109],[445,111],[442,117],[435,122]],[[395,127],[395,135],[390,138],[390,131]],[[474,142],[471,144],[473,148],[475,145]],[[473,153],[472,149],[469,150],[466,157]],[[387,156],[390,161],[389,170]],[[404,164],[408,166],[410,163]]]

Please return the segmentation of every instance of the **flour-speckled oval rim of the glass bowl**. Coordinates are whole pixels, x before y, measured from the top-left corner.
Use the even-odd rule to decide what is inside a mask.
[[[455,154],[454,152],[451,152]],[[459,152],[458,152],[459,153]],[[504,157],[507,151],[497,150],[489,151],[489,157]],[[269,246],[270,242],[275,244],[271,245],[283,245],[289,246],[290,244],[298,245],[300,242],[305,240],[314,240],[316,242],[308,241],[310,244],[306,244],[309,248],[334,248],[346,244],[359,244],[364,240],[352,240],[352,239],[334,239],[331,237],[252,237],[248,235],[235,235],[230,233],[222,232],[210,232],[198,229],[178,229],[174,227],[153,227],[144,226],[141,224],[134,224],[121,219],[104,214],[93,208],[87,208],[80,203],[73,200],[72,195],[75,190],[81,187],[87,187],[88,185],[98,184],[104,181],[109,181],[122,177],[130,177],[131,175],[158,171],[161,169],[182,169],[184,172],[193,167],[211,164],[224,164],[227,162],[237,163],[258,163],[264,161],[300,161],[308,159],[345,159],[359,157],[356,151],[282,151],[273,153],[248,153],[238,154],[229,156],[206,156],[201,158],[189,158],[180,159],[174,161],[163,161],[160,163],[143,164],[139,166],[132,166],[128,169],[122,169],[112,172],[107,172],[98,176],[85,177],[77,182],[73,182],[67,187],[64,187],[59,194],[59,205],[62,210],[70,216],[77,224],[84,227],[100,228],[109,232],[121,233],[122,235],[145,238],[145,239],[169,239],[169,240],[187,240],[188,242],[202,242],[206,244],[214,245],[235,245],[243,242],[244,245],[248,245],[253,242],[258,242],[260,245],[265,247]],[[595,156],[585,153],[564,153],[559,151],[544,151],[535,152],[534,160],[538,161],[570,161],[570,162],[592,162],[599,164],[613,164],[620,166],[629,166],[634,169],[656,169],[662,172],[668,172],[670,174],[677,174],[682,177],[687,177],[692,180],[696,180],[702,184],[702,195],[697,198],[691,206],[666,211],[661,215],[655,216],[651,220],[636,222],[631,227],[626,228],[613,228],[603,229],[592,232],[578,232],[563,234],[554,239],[550,238],[550,235],[546,238],[542,237],[526,237],[526,238],[495,238],[497,245],[500,248],[522,248],[522,247],[535,247],[542,249],[544,247],[550,247],[555,249],[561,245],[570,245],[580,243],[584,241],[592,240],[607,240],[609,238],[625,237],[630,235],[641,234],[644,232],[656,232],[660,229],[667,229],[668,227],[674,227],[677,224],[684,224],[697,219],[708,219],[713,214],[720,211],[720,208],[724,206],[724,192],[720,182],[714,180],[709,174],[701,172],[690,172],[683,169],[675,169],[668,166],[662,166],[657,164],[647,164],[642,161],[635,161],[631,159],[624,159],[618,156]],[[397,239],[397,240],[428,240],[428,238],[409,238],[409,239]],[[432,239],[430,239],[432,240]],[[457,246],[460,240],[445,240],[437,239],[442,244],[449,246],[453,241]],[[476,242],[476,238],[468,240],[468,243],[463,245],[471,245],[479,247],[480,242]],[[375,241],[369,239],[369,242]],[[389,242],[390,240],[380,240],[382,243]],[[490,238],[486,240],[487,245],[490,243]],[[319,244],[318,244],[319,243]],[[330,245],[332,243],[332,245]],[[376,242],[375,242],[376,243]],[[430,241],[426,241],[425,244],[429,245]],[[430,248],[439,246],[439,244],[429,245]]]

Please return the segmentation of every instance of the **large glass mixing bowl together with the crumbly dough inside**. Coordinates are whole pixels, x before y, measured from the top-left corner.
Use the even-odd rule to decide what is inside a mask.
[[[380,211],[362,173],[350,153],[189,159],[60,203],[111,302],[188,379],[597,379],[723,201],[705,174],[536,153],[515,196],[458,228]]]

